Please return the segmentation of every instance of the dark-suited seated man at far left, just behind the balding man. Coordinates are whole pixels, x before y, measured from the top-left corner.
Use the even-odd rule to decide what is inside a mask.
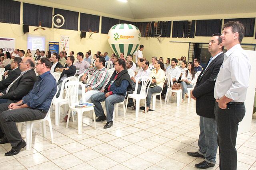
[[[8,75],[7,78],[0,81],[0,92],[2,92],[5,88],[7,88],[19,75],[20,75],[20,57],[15,57],[13,61],[11,61],[11,69],[6,71],[4,75]]]

